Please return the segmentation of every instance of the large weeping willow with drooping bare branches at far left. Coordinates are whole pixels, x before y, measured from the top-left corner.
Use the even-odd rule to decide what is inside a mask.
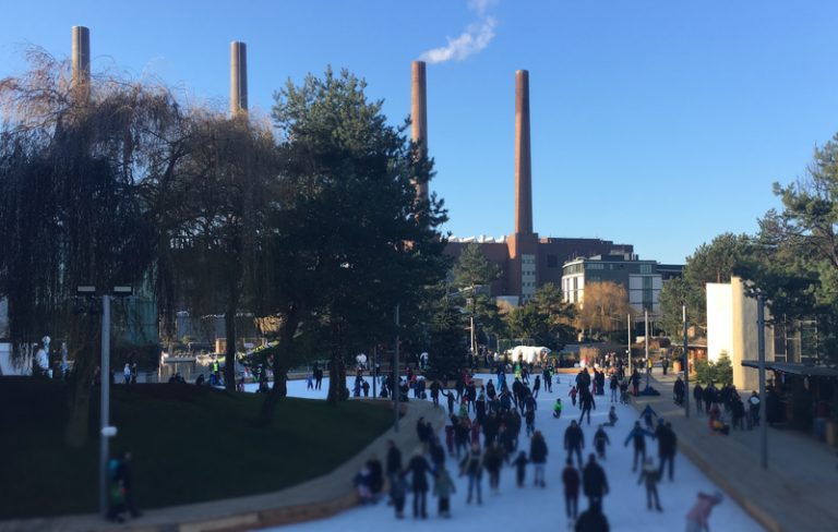
[[[98,316],[71,312],[76,287],[148,280],[158,243],[149,203],[176,168],[180,110],[164,88],[101,76],[73,90],[69,68],[40,51],[0,80],[0,297],[15,356],[45,330],[74,360],[65,439],[88,436]],[[149,216],[151,215],[151,216]]]

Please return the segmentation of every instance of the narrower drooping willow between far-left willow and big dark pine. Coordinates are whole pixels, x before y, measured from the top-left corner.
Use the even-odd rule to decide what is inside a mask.
[[[193,110],[189,156],[177,177],[179,195],[164,216],[168,249],[161,255],[166,315],[173,305],[193,315],[224,314],[225,385],[235,389],[237,315],[262,291],[256,265],[275,207],[277,153],[271,130],[239,116]]]

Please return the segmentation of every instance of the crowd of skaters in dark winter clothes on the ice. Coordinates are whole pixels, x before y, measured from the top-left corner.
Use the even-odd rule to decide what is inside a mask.
[[[515,364],[512,367],[501,364],[494,377],[478,384],[469,372],[464,371],[448,385],[441,380],[429,383],[409,372],[405,379],[408,389],[414,390],[415,397],[428,396],[434,407],[446,409],[447,422],[441,438],[424,419],[418,421],[416,435],[422,451],[410,457],[407,463],[402,462],[399,450],[390,443],[386,484],[390,487],[390,504],[394,506],[397,518],[404,517],[407,497],[411,495],[412,516],[427,519],[429,491],[438,498],[439,516],[451,517],[451,495],[456,485],[446,467],[446,457],[456,464],[454,473],[466,479],[464,489],[467,505],[482,505],[484,491],[498,495],[501,476],[506,468],[514,471],[516,486],[528,484],[528,471],[531,470],[531,485],[547,488],[550,479],[546,474],[546,464],[551,456],[552,444],[536,425],[537,395],[542,389],[552,392],[553,386],[562,377],[554,379],[552,367],[544,367],[534,378],[527,364]],[[604,513],[604,498],[610,491],[608,477],[620,472],[614,467],[604,468],[603,464],[607,461],[607,449],[612,445],[613,434],[609,433],[616,428],[619,421],[614,403],[625,399],[621,396],[627,395],[632,379],[621,378],[615,372],[607,376],[599,368],[592,372],[583,368],[577,375],[564,378],[567,379],[567,395],[572,404],[579,409],[579,418],[570,420],[563,439],[565,467],[561,483],[566,517],[571,527],[577,531],[609,530]],[[596,409],[595,396],[604,396],[606,388],[611,390],[609,421],[597,426],[590,442],[591,451],[585,456],[583,425],[590,425],[590,411]],[[443,404],[441,398],[445,399]],[[559,420],[566,415],[561,397],[555,400],[552,415]],[[657,460],[650,454],[647,455],[648,440],[657,443]],[[632,473],[637,475],[637,484],[645,488],[647,509],[663,511],[658,484],[665,479],[674,481],[678,437],[672,425],[647,407],[625,435],[624,445],[630,444],[634,451]],[[359,495],[364,503],[376,501],[383,495],[384,484],[380,472],[381,467],[371,460],[356,477]],[[578,504],[580,495],[587,499],[587,508],[582,512]],[[716,494],[699,494],[696,507],[690,513],[692,518],[687,517],[687,521],[706,524],[709,510],[718,504],[717,500],[720,500],[720,496]]]

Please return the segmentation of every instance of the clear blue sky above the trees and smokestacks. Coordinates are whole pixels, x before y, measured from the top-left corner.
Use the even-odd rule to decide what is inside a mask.
[[[803,176],[838,131],[834,1],[76,0],[7,2],[3,20],[0,76],[25,68],[27,44],[69,56],[80,24],[94,70],[224,107],[242,40],[251,108],[332,64],[367,78],[393,123],[409,113],[410,61],[451,56],[428,65],[429,145],[459,237],[513,231],[517,69],[530,74],[535,229],[644,258],[754,232],[778,206],[771,183]],[[459,46],[428,55],[448,39]]]

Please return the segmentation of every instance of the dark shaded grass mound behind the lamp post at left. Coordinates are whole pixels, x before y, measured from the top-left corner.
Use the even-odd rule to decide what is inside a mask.
[[[0,377],[0,519],[97,509],[98,389],[89,445],[63,445],[65,387]],[[111,387],[111,451],[133,455],[137,506],[155,508],[272,492],[327,473],[392,422],[390,410],[283,399],[255,426],[264,396],[208,387]]]

